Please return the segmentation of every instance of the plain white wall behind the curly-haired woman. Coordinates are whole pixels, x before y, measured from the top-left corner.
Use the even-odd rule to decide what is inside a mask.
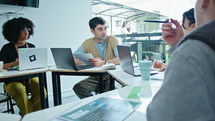
[[[19,13],[23,15],[10,15],[13,17],[26,17],[35,24],[35,34],[28,40],[36,47],[70,47],[76,50],[80,44],[91,37],[88,21],[91,18],[91,0],[40,0],[39,8],[25,7]],[[0,5],[0,14],[15,12],[22,7]],[[7,21],[5,14],[0,15],[0,30]],[[0,34],[0,48],[7,43]],[[54,64],[49,50],[48,63]],[[48,75],[48,91],[52,94],[51,76]],[[62,80],[62,91],[71,91],[74,83],[83,77],[65,77]],[[2,88],[2,86],[0,86]]]

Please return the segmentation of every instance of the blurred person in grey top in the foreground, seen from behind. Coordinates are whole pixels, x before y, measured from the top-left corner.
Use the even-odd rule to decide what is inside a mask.
[[[215,120],[215,0],[197,0],[194,10],[197,28],[177,44],[148,121]]]

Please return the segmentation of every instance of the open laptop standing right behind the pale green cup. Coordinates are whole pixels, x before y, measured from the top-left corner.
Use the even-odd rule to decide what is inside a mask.
[[[140,70],[138,66],[133,65],[130,47],[117,45],[117,50],[119,53],[121,69],[133,76],[140,76]]]

